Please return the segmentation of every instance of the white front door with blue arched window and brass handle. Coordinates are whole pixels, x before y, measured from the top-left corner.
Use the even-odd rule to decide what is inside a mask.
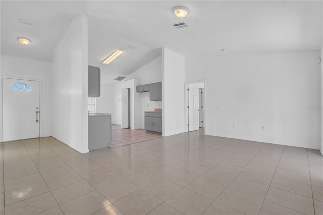
[[[39,137],[39,81],[2,79],[3,141]]]

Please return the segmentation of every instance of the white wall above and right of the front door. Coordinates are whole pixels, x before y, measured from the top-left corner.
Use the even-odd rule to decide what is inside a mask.
[[[41,81],[40,125],[41,137],[51,136],[52,130],[52,67],[51,62],[1,55],[1,77],[37,79]],[[6,125],[4,125],[6,126]]]

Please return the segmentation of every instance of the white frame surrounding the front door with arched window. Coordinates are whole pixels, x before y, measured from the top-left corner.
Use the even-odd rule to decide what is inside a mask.
[[[41,79],[37,78],[24,78],[24,77],[15,77],[15,76],[0,76],[1,81],[1,99],[0,99],[0,107],[1,107],[1,136],[0,136],[0,142],[3,142],[4,137],[4,107],[3,107],[3,79],[17,79],[17,80],[26,80],[26,81],[38,81],[39,82],[39,137],[42,137],[42,119],[43,119],[43,111],[42,111],[42,83]]]

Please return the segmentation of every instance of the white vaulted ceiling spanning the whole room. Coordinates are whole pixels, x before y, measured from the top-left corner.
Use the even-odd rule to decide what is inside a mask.
[[[160,55],[160,47],[184,56],[319,50],[322,1],[1,1],[1,53],[51,61],[71,20],[88,16],[89,65],[113,86]],[[172,9],[185,6],[187,17]],[[32,26],[18,22],[22,18]],[[184,21],[188,28],[171,24]],[[17,37],[31,39],[20,45]],[[128,47],[129,44],[137,48]],[[125,50],[110,65],[102,60]],[[221,49],[228,49],[221,52]]]

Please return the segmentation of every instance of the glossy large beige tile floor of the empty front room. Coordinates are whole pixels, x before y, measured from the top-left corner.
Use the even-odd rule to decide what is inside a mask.
[[[323,214],[318,150],[182,133],[81,154],[1,144],[1,214]]]

